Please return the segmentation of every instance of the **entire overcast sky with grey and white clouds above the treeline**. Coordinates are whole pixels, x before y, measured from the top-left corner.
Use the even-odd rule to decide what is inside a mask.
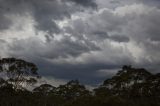
[[[159,0],[0,0],[0,57],[96,86],[122,65],[160,72],[159,28]]]

